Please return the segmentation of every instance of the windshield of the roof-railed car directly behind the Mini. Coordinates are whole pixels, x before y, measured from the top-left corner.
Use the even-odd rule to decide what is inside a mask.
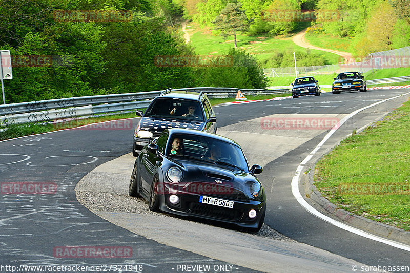
[[[148,107],[145,116],[203,121],[199,102],[186,99],[157,98]]]

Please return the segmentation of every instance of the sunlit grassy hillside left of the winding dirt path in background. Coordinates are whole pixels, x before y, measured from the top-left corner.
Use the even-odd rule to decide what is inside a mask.
[[[234,47],[233,36],[225,41],[221,36],[213,35],[210,30],[200,29],[195,23],[190,23],[189,26],[190,28],[187,29],[193,33],[190,39],[196,54],[222,55],[227,54],[229,49]],[[305,48],[296,46],[292,37],[237,35],[237,46],[252,54],[260,62],[269,59],[277,52],[309,52]],[[329,52],[319,50],[310,50],[310,52],[324,56],[328,64],[337,64],[340,59],[338,55]]]

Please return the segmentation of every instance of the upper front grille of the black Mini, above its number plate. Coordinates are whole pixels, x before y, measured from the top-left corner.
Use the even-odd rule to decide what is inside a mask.
[[[193,182],[187,186],[187,192],[207,196],[216,196],[223,199],[248,200],[242,191],[230,186],[215,183]]]

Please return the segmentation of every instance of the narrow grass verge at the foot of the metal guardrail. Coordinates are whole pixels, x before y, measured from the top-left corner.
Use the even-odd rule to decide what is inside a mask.
[[[286,94],[275,94],[269,96],[247,96],[247,99],[269,99],[274,97],[282,97],[282,96],[290,96],[291,93]],[[230,102],[235,101],[234,98],[218,98],[218,99],[211,99],[211,104],[215,106],[216,104],[220,104],[223,102]],[[126,113],[126,114],[118,114],[118,115],[110,115],[110,116],[99,116],[99,117],[91,117],[91,118],[84,118],[84,119],[75,119],[70,120],[68,122],[42,122],[42,123],[30,123],[30,124],[11,124],[7,127],[7,130],[0,132],[0,141],[22,137],[22,136],[29,136],[29,135],[36,135],[42,134],[47,132],[53,132],[63,129],[75,128],[82,125],[104,122],[109,120],[117,120],[117,119],[125,119],[125,118],[134,118],[136,117],[135,113]],[[4,128],[4,127],[3,127]]]

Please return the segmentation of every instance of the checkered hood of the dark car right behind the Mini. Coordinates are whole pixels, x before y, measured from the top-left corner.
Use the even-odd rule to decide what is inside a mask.
[[[161,117],[142,117],[140,121],[141,130],[150,131],[153,133],[162,133],[165,129],[183,128],[202,131],[204,127],[203,121],[187,120],[187,119],[172,119]]]

